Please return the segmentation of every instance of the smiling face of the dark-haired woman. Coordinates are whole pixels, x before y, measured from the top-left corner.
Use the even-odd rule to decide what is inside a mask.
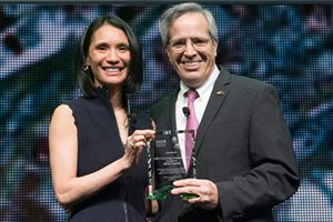
[[[85,62],[93,72],[95,87],[121,89],[131,62],[125,33],[109,23],[101,26],[91,37]]]

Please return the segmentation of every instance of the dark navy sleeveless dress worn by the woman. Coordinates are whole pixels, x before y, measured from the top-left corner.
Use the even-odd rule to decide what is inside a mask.
[[[67,102],[78,129],[78,176],[98,171],[124,153],[108,91],[99,88],[95,98]],[[140,113],[130,120],[129,134],[135,129],[152,129],[151,119]],[[71,222],[141,222],[148,186],[147,150],[138,164],[99,193],[75,204]]]

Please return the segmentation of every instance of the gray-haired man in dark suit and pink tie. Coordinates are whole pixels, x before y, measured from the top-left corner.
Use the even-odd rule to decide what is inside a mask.
[[[272,221],[272,208],[299,188],[292,139],[275,89],[218,69],[216,24],[196,3],[167,10],[160,32],[181,82],[151,109],[157,130],[185,129],[189,114],[195,114],[199,127],[196,179],[190,179],[193,165],[184,164],[189,179],[173,183],[172,194],[160,202],[159,220]],[[188,90],[198,93],[191,112],[183,109],[190,104]],[[182,193],[198,198],[182,199]]]

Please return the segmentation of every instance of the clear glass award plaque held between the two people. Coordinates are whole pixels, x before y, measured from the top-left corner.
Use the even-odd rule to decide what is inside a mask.
[[[183,165],[179,135],[191,133],[192,145],[194,148],[194,130],[157,131],[155,138],[148,142],[149,179],[152,184],[154,179],[154,191],[147,198],[148,200],[164,200],[173,189],[172,182],[188,178]],[[194,150],[194,149],[192,149]],[[195,158],[192,153],[192,170],[195,178]],[[195,198],[193,194],[182,194],[182,199]]]

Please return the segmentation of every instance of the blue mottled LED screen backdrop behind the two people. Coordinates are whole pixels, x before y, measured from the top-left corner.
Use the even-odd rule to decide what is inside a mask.
[[[315,1],[313,1],[315,2]],[[80,95],[75,46],[100,14],[128,21],[143,48],[144,83],[131,105],[148,110],[176,85],[158,18],[170,4],[0,6],[0,221],[65,221],[50,176],[53,109]],[[285,222],[333,221],[332,4],[205,4],[219,26],[218,64],[280,93],[301,173],[299,191],[274,209]]]

